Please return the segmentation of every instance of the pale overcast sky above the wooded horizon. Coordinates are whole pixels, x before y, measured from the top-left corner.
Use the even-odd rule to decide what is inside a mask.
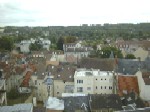
[[[150,0],[0,0],[0,26],[150,22]]]

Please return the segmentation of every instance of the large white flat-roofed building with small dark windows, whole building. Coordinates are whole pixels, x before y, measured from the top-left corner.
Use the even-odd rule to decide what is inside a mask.
[[[74,75],[74,92],[112,94],[113,73],[99,69],[77,69]]]

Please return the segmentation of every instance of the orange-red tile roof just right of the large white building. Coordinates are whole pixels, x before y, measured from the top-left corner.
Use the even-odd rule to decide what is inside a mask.
[[[135,92],[139,94],[139,86],[137,76],[118,75],[118,93],[123,96],[123,91],[127,93]]]

